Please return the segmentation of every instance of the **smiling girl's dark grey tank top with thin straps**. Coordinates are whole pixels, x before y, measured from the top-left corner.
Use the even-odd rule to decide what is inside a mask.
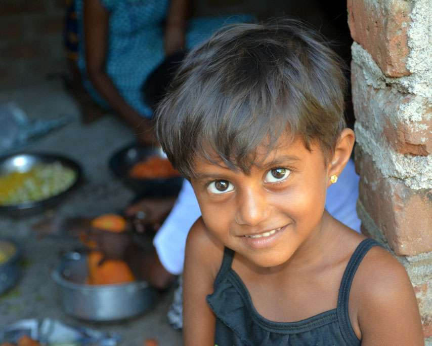
[[[363,257],[373,246],[373,239],[363,240],[354,251],[343,273],[337,307],[297,322],[273,322],[255,310],[249,292],[232,270],[234,252],[225,248],[214,291],[207,302],[216,316],[215,344],[243,345],[360,345],[348,313],[348,301],[354,275]]]

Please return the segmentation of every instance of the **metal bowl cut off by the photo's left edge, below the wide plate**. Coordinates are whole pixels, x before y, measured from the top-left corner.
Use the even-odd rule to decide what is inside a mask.
[[[7,255],[7,260],[0,263],[0,294],[11,289],[21,276],[19,260],[21,250],[14,241],[0,238],[0,251]]]

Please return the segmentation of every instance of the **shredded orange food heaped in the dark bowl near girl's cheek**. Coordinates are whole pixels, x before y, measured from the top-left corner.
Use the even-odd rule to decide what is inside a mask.
[[[180,173],[167,159],[155,155],[135,164],[129,171],[129,176],[137,179],[172,178],[180,176]]]

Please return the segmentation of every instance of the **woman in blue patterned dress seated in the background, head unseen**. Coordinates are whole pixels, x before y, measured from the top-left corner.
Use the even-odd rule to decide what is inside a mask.
[[[115,110],[142,142],[152,142],[147,76],[165,56],[189,50],[225,24],[250,16],[189,17],[188,0],[75,0],[78,68],[85,89]]]

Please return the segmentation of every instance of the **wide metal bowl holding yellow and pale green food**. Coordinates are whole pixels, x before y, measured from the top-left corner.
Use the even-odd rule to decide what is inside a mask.
[[[35,164],[54,162],[59,162],[64,167],[70,168],[75,172],[75,181],[67,189],[44,200],[25,202],[15,205],[2,205],[0,206],[0,213],[11,217],[22,217],[45,211],[46,209],[54,207],[63,201],[65,197],[68,196],[82,180],[81,167],[75,161],[63,156],[52,155],[48,153],[20,152],[1,157],[0,175],[8,174],[14,171],[26,172],[30,170]]]

